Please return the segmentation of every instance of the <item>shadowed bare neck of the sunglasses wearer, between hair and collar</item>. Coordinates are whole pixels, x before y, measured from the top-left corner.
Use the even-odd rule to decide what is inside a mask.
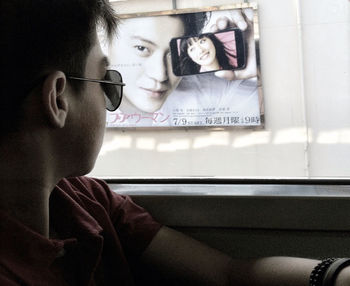
[[[49,197],[57,183],[49,161],[40,147],[27,151],[16,141],[0,145],[0,209],[46,237]]]

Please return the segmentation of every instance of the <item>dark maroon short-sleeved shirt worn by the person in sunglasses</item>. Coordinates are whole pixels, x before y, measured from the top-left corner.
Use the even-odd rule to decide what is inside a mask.
[[[0,285],[133,285],[132,266],[161,225],[105,182],[78,177],[52,192],[50,227],[58,239],[0,211]]]

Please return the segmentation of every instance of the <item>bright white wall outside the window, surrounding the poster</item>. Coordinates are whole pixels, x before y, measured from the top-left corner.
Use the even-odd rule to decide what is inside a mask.
[[[240,1],[177,0],[177,8]],[[350,2],[260,0],[263,130],[108,129],[100,177],[350,176]],[[171,0],[113,3],[120,13]]]

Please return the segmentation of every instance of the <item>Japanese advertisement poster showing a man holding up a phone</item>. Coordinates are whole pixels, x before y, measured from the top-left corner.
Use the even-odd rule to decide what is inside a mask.
[[[108,56],[126,86],[107,127],[263,125],[256,6],[121,18]]]

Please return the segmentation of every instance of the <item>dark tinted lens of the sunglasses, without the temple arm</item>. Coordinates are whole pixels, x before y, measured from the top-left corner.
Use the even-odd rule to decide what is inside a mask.
[[[107,70],[104,79],[115,83],[123,82],[121,74],[115,70]],[[102,87],[106,95],[107,110],[115,111],[122,101],[123,86],[103,83]]]

